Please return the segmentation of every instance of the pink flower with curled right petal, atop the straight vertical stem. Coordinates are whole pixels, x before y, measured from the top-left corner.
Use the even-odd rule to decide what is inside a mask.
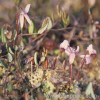
[[[73,49],[72,47],[67,47],[65,53],[69,56],[69,63],[72,64],[74,62],[76,54],[79,52],[79,46],[77,49]]]

